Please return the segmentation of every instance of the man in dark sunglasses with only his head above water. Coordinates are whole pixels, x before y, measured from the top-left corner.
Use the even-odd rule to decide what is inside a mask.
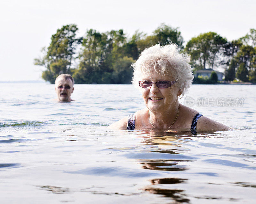
[[[57,93],[57,101],[70,102],[73,101],[70,96],[74,91],[74,79],[70,74],[61,74],[55,80],[55,91]]]

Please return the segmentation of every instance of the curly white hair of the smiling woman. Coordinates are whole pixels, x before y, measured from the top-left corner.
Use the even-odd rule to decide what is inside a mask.
[[[178,50],[176,44],[161,46],[156,44],[146,48],[140,55],[139,59],[132,64],[134,69],[132,84],[136,88],[139,87],[138,81],[141,76],[154,75],[156,73],[163,76],[172,76],[182,92],[180,98],[187,93],[192,84],[194,75],[189,65],[190,56],[187,53],[182,53]]]

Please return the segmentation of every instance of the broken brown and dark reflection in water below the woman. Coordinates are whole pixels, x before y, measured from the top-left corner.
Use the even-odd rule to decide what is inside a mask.
[[[161,159],[139,159],[141,168],[148,170],[158,171],[186,171],[188,166],[186,162],[194,161],[195,158],[188,158],[185,155],[189,149],[184,148],[182,143],[186,143],[190,140],[187,135],[179,136],[177,138],[177,132],[148,132],[149,135],[143,140],[142,143],[147,145],[147,152],[157,154],[157,158]],[[162,154],[159,154],[162,153]],[[168,154],[168,155],[166,155]],[[166,159],[166,157],[168,159]],[[143,188],[144,191],[149,193],[163,195],[164,197],[172,198],[175,203],[188,203],[190,200],[180,186],[177,189],[177,184],[187,183],[188,179],[180,178],[161,178],[150,180],[151,185]],[[173,184],[176,184],[173,186]]]

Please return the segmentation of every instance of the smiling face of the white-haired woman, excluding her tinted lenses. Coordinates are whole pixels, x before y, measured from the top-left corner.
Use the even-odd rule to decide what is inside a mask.
[[[163,76],[158,73],[155,75],[142,75],[140,80],[147,80],[150,82],[175,81],[174,78],[170,76]],[[171,87],[162,89],[158,88],[156,84],[152,84],[150,88],[145,89],[140,87],[140,90],[147,108],[155,112],[170,110],[179,98],[179,88],[177,83]]]

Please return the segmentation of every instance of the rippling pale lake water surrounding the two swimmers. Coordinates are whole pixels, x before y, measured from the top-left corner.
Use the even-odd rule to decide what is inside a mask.
[[[0,84],[1,204],[255,203],[255,85],[192,85],[180,103],[235,128],[192,135],[107,129],[144,108],[132,85]]]

